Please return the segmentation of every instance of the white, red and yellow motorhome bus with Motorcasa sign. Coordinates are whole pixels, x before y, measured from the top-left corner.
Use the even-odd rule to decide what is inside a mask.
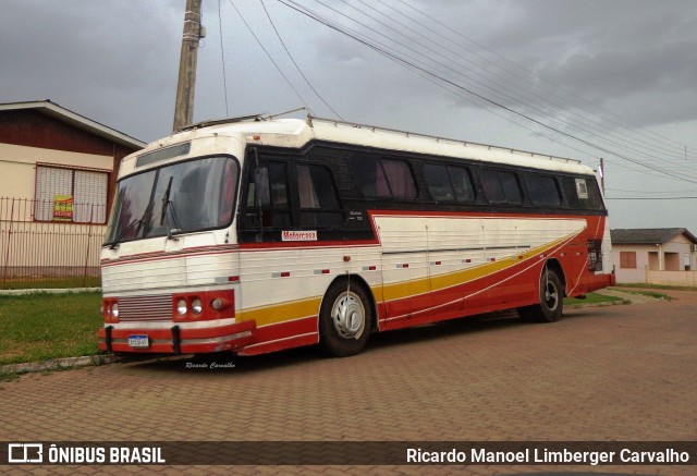
[[[99,346],[254,355],[517,308],[614,283],[575,160],[317,118],[192,126],[123,159]]]

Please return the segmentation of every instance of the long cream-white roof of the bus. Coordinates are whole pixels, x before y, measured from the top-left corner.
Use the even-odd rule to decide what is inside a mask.
[[[571,173],[594,173],[592,169],[574,159],[311,115],[303,120],[265,119],[254,114],[201,122],[150,144],[143,152],[213,135],[241,136],[243,142],[265,146],[302,148],[310,141],[322,141]]]

